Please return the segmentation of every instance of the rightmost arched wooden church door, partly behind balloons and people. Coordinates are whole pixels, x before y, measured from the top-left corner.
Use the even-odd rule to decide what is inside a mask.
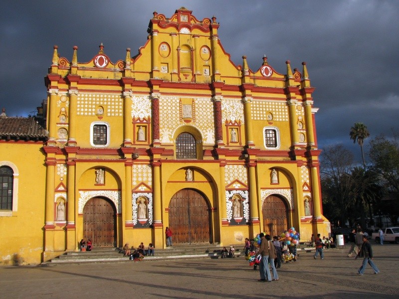
[[[284,199],[269,195],[263,201],[263,231],[270,236],[278,236],[288,229],[288,208]]]

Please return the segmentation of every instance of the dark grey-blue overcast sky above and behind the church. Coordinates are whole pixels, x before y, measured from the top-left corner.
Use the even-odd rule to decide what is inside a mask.
[[[279,73],[307,62],[319,148],[344,143],[363,122],[371,138],[399,129],[398,0],[3,0],[0,4],[0,108],[27,116],[46,97],[53,45],[89,61],[102,42],[112,62],[147,40],[153,11],[170,17],[185,6],[198,19],[216,16],[219,38],[235,64],[256,71],[263,55]],[[366,142],[367,144],[367,142]],[[360,155],[358,156],[360,161]]]

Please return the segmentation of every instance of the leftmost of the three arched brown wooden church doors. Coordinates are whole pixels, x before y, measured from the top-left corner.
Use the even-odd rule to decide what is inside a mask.
[[[116,246],[116,210],[114,204],[101,197],[90,199],[83,208],[83,239],[93,247]]]

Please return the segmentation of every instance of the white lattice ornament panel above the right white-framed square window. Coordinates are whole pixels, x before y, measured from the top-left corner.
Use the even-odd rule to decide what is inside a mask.
[[[273,115],[274,122],[288,121],[288,107],[285,102],[252,101],[251,116],[255,121],[267,121],[267,115]]]

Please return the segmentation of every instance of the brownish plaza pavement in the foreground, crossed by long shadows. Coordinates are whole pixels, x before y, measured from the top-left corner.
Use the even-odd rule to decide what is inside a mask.
[[[358,276],[362,259],[348,258],[349,247],[324,260],[300,253],[270,283],[243,257],[15,266],[0,268],[0,298],[399,298],[399,245],[372,243],[378,275],[368,266]]]

